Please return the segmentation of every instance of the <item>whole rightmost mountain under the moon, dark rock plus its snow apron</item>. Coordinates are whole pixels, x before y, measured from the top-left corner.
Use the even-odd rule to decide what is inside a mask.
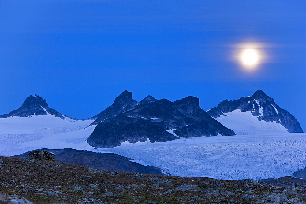
[[[237,100],[224,100],[207,113],[236,134],[244,132],[291,132],[302,133],[300,123],[288,111],[279,107],[263,91]]]

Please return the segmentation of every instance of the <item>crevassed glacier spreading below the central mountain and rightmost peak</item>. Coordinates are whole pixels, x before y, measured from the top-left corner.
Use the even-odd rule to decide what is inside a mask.
[[[279,178],[292,176],[306,165],[305,133],[190,137],[144,144],[90,151],[116,153],[186,177]]]

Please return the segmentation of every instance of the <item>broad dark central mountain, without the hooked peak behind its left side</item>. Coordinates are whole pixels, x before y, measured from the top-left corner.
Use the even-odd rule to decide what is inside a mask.
[[[179,137],[235,135],[233,130],[203,111],[196,97],[174,102],[152,98],[148,96],[145,99],[149,102],[103,119],[86,140],[88,144],[95,148],[111,148],[126,141],[166,142]]]

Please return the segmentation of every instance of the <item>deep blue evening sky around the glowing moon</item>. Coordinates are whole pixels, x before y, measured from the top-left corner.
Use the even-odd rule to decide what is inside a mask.
[[[306,1],[0,1],[0,114],[29,95],[89,118],[122,91],[207,110],[261,89],[306,130]],[[237,45],[265,60],[245,71]]]

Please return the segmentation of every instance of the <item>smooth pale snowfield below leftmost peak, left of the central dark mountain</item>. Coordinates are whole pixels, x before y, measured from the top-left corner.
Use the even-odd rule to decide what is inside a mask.
[[[95,129],[95,126],[86,128],[91,122],[93,120],[63,120],[51,114],[2,118],[0,155],[11,156],[36,148],[90,149],[85,140]]]

